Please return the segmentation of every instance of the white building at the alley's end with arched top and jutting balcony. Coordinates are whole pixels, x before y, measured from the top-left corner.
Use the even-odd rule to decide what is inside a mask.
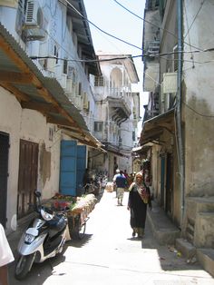
[[[111,180],[117,168],[132,172],[131,149],[137,143],[140,94],[132,92],[131,84],[137,84],[139,78],[131,54],[97,55],[102,76],[96,76],[93,84],[94,135],[107,153],[94,156],[92,168],[107,172]]]

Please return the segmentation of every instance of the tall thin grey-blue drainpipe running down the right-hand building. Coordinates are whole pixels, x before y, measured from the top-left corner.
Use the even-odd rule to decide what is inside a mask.
[[[176,105],[176,119],[177,119],[177,132],[178,132],[178,148],[179,148],[179,164],[180,164],[180,205],[181,205],[181,225],[184,216],[184,147],[182,137],[182,121],[181,121],[181,81],[182,81],[182,0],[177,0],[177,16],[178,16],[178,91],[177,91],[177,105]]]

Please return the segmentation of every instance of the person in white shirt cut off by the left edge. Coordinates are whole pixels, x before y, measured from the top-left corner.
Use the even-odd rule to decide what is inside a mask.
[[[0,223],[0,285],[8,285],[7,264],[14,261],[14,255],[5,236],[5,230]]]

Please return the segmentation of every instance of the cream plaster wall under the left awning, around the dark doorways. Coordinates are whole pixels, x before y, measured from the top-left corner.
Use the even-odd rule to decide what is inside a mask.
[[[10,140],[6,212],[6,226],[10,229],[16,215],[20,139],[39,143],[38,189],[43,199],[58,191],[60,140],[59,134],[54,133],[53,141],[49,141],[49,127],[53,125],[47,124],[41,113],[23,110],[15,96],[1,87],[0,98],[0,131],[8,133]]]

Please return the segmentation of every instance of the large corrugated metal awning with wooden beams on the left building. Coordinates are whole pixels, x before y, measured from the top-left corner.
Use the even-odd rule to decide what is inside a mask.
[[[102,146],[57,80],[44,77],[1,23],[0,86],[13,93],[22,108],[43,113],[47,123],[66,128],[74,139],[94,148]]]

